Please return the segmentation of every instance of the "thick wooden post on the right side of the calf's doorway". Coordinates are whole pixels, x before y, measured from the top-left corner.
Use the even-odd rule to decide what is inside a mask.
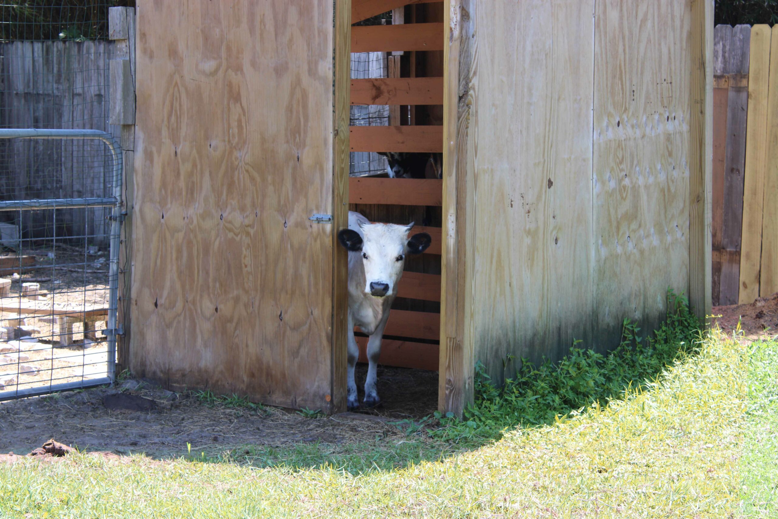
[[[473,402],[475,355],[471,319],[466,318],[468,268],[465,261],[473,258],[468,250],[468,218],[475,213],[472,179],[472,154],[468,146],[474,142],[469,131],[472,106],[471,77],[478,37],[475,33],[477,3],[471,0],[448,0],[444,4],[445,47],[443,49],[443,256],[441,258],[440,300],[440,378],[438,409],[461,416],[465,406]],[[470,241],[469,243],[472,243]],[[466,324],[467,323],[467,324]],[[467,327],[467,328],[466,328]]]

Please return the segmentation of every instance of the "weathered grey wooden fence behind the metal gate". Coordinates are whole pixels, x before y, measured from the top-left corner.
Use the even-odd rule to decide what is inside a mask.
[[[108,124],[113,53],[114,43],[103,40],[0,43],[0,127],[114,132]],[[110,163],[110,153],[95,142],[6,140],[0,142],[0,199],[102,196]],[[83,235],[86,226],[90,241],[107,241],[107,209],[58,212],[65,237]],[[24,237],[54,232],[49,212],[26,212],[23,218]]]

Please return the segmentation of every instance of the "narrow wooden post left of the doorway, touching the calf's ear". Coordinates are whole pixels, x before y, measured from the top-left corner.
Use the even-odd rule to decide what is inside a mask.
[[[349,227],[349,80],[351,76],[351,2],[335,0],[335,82],[333,84],[332,150],[332,398],[330,413],[346,409],[349,334],[349,253],[338,243],[338,232]]]

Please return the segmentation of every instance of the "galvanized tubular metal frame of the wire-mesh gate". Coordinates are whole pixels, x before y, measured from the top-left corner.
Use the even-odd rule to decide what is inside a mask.
[[[10,129],[0,128],[0,139],[95,139],[104,142],[110,154],[113,157],[113,182],[114,195],[107,198],[50,198],[44,200],[8,200],[0,201],[0,211],[11,210],[30,210],[30,209],[74,209],[83,207],[111,207],[113,211],[110,215],[110,256],[108,268],[108,322],[107,328],[110,331],[108,336],[108,377],[89,380],[88,382],[68,382],[65,384],[55,384],[49,388],[30,388],[29,390],[17,391],[16,395],[32,396],[42,395],[54,391],[72,389],[74,387],[86,387],[91,385],[110,384],[114,381],[116,372],[116,333],[120,328],[117,327],[117,308],[118,308],[118,290],[119,290],[119,239],[121,233],[121,186],[122,186],[122,166],[123,158],[121,146],[113,135],[100,130],[37,130],[28,129]],[[3,399],[3,398],[0,398]]]

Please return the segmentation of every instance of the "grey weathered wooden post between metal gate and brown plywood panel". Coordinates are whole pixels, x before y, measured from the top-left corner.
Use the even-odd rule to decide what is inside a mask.
[[[130,343],[130,288],[132,258],[133,170],[135,168],[135,8],[108,9],[108,37],[114,40],[110,60],[110,124],[124,155],[124,225],[119,251],[119,297],[117,323],[124,334],[117,336],[117,373],[128,368]]]

